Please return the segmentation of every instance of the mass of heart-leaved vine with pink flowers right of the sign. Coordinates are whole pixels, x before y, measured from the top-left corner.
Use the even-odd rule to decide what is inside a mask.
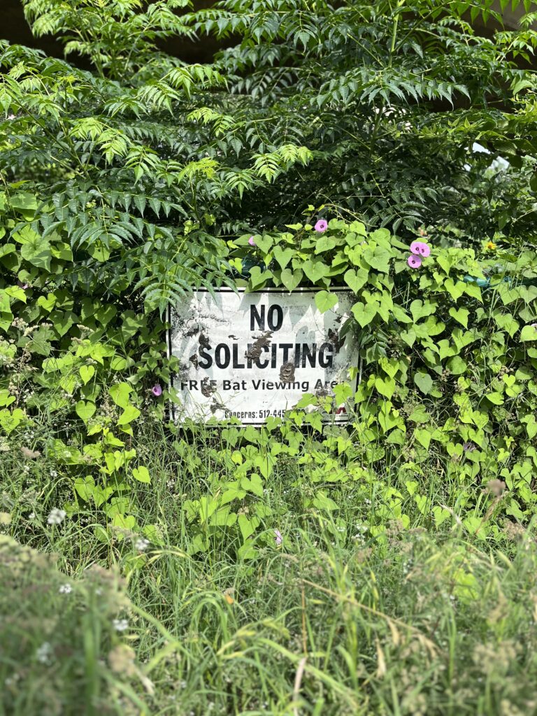
[[[252,260],[263,266],[238,279],[248,289],[286,287],[289,276],[304,276],[321,289],[321,311],[337,301],[332,286],[356,296],[340,332],[359,346],[359,371],[352,373],[359,372],[359,387],[348,406],[355,410],[352,430],[332,427],[324,441],[344,455],[334,479],[365,480],[367,490],[387,467],[396,468],[405,480],[390,510],[406,525],[405,493],[424,516],[434,508],[443,519],[462,518],[480,538],[496,529],[498,512],[530,520],[537,507],[537,253],[498,245],[476,254],[436,246],[436,237],[424,234],[430,255],[412,269],[410,248],[386,229],[367,233],[359,221],[337,219],[324,233],[309,223],[288,228],[256,236],[255,250],[246,235],[228,242],[231,264],[239,272]],[[332,413],[352,393],[305,396],[298,407],[313,412],[304,424],[320,431],[320,413]],[[304,416],[291,412],[291,420],[303,425]],[[460,485],[456,516],[442,513],[442,503],[420,488],[421,465],[433,456],[442,480]],[[501,498],[479,489],[493,480],[508,488]],[[383,506],[375,523],[386,516]]]

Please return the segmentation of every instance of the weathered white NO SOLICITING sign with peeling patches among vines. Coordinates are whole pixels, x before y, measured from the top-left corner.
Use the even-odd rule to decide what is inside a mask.
[[[174,419],[205,421],[238,417],[261,425],[283,417],[304,393],[330,395],[357,364],[349,337],[340,332],[354,300],[347,289],[324,314],[314,289],[291,294],[268,289],[247,294],[218,289],[195,291],[170,310],[169,352],[180,359],[172,387],[183,403]],[[334,406],[334,422],[347,422],[344,406]]]

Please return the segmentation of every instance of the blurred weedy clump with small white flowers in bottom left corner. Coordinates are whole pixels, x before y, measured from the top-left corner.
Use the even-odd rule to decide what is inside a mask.
[[[94,566],[69,579],[0,535],[0,580],[2,713],[147,713],[153,684],[120,638],[130,601],[119,576]]]

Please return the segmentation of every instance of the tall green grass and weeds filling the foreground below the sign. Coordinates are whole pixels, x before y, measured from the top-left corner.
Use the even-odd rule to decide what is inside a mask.
[[[337,517],[305,508],[308,468],[290,460],[263,495],[281,544],[260,526],[254,558],[238,558],[225,531],[191,555],[182,505],[210,489],[218,435],[173,442],[146,427],[136,447],[153,480],[132,490],[130,509],[158,526],[159,543],[104,538],[90,508],[50,525],[72,478],[46,455],[24,465],[2,455],[2,531],[52,563],[1,543],[0,713],[536,712],[531,532],[509,522],[485,542],[456,522],[435,531],[410,500],[410,526],[387,516],[373,536],[374,505],[352,485],[332,488]],[[430,490],[445,493],[432,468],[422,465]],[[95,565],[112,585],[106,598],[95,596]]]

